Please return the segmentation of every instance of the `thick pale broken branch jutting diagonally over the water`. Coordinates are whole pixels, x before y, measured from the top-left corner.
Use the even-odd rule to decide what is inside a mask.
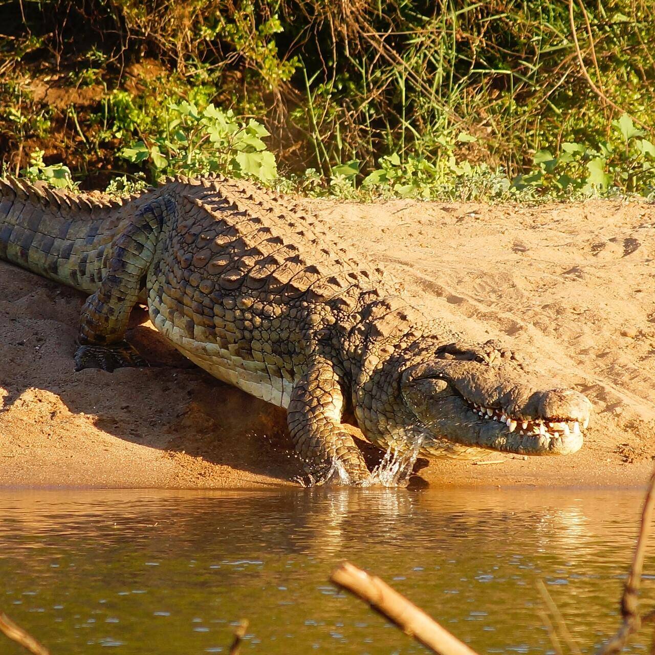
[[[441,627],[431,616],[392,589],[386,582],[343,562],[330,575],[331,582],[368,603],[402,631],[439,655],[477,655]]]

